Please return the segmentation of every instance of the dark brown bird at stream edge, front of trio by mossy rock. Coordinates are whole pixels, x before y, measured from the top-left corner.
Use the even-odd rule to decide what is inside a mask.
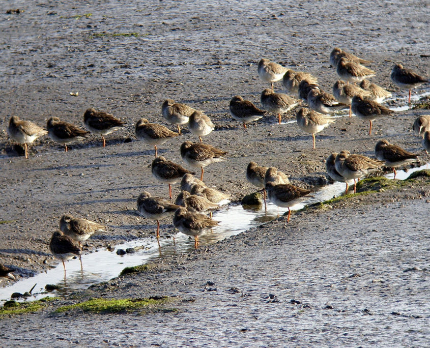
[[[288,218],[286,222],[290,222],[291,210],[290,207],[305,200],[305,196],[312,192],[312,190],[305,190],[291,184],[278,184],[268,182],[266,184],[267,196],[270,201],[278,207],[288,208]]]

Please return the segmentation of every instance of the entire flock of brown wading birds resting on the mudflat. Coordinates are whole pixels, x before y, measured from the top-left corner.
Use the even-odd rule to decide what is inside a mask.
[[[336,67],[337,75],[340,78],[333,85],[333,94],[324,92],[318,85],[317,78],[306,72],[293,71],[279,64],[271,63],[267,59],[262,59],[258,65],[260,78],[270,82],[272,87],[262,92],[261,104],[265,110],[278,115],[279,124],[282,113],[300,104],[302,100],[308,103],[309,109],[302,107],[296,114],[296,121],[300,129],[312,134],[313,148],[315,148],[315,134],[334,122],[329,114],[337,110],[349,108],[350,117],[353,112],[358,118],[369,121],[369,134],[371,134],[372,121],[394,112],[380,104],[385,98],[391,97],[391,93],[367,80],[367,78],[375,76],[375,71],[366,67],[371,64],[370,61],[334,48],[330,54],[330,64]],[[409,90],[409,104],[411,89],[430,82],[427,78],[403,68],[400,64],[394,65],[390,77],[400,88]],[[281,79],[284,88],[290,93],[298,94],[301,100],[286,94],[274,93],[273,82]],[[230,101],[232,117],[242,122],[245,128],[247,123],[261,119],[265,110],[257,108],[240,96],[235,96]],[[173,215],[174,226],[185,235],[194,236],[197,248],[198,236],[218,224],[217,221],[201,212],[215,209],[219,202],[230,197],[228,194],[206,187],[203,182],[204,167],[225,160],[226,152],[203,143],[202,137],[211,133],[215,126],[202,111],[167,99],[162,104],[162,115],[167,122],[177,126],[178,132],[171,131],[159,124],[149,123],[146,119],[140,119],[136,123],[135,133],[139,140],[154,146],[155,159],[152,162],[151,171],[158,181],[168,184],[169,198],[172,198],[171,184],[180,180],[181,193],[173,204],[170,200],[143,192],[137,198],[137,210],[142,216],[157,221],[157,239],[159,238],[159,219]],[[125,125],[113,115],[94,108],[85,111],[83,121],[88,131],[60,121],[59,118],[51,117],[47,121],[45,130],[32,122],[21,121],[14,116],[10,119],[8,133],[16,142],[24,144],[25,157],[28,158],[27,144],[42,135],[48,134],[52,140],[64,144],[65,151],[67,151],[68,143],[82,139],[91,132],[101,135],[104,147],[106,143],[104,136]],[[189,166],[201,169],[200,180],[193,177],[195,174],[193,171],[168,161],[163,156],[157,156],[157,146],[170,138],[179,136],[181,134],[180,125],[184,124],[188,125],[191,133],[198,136],[200,142],[183,142],[181,157]],[[430,151],[430,115],[417,118],[413,129],[417,136],[423,138],[423,148]],[[385,165],[393,168],[395,177],[395,167],[411,163],[417,160],[418,156],[389,144],[387,140],[378,141],[375,155],[377,159],[351,154],[348,151],[333,153],[326,160],[328,175],[334,181],[345,182],[346,192],[348,192],[348,181],[354,180],[355,192],[356,180],[365,177],[372,170]],[[287,222],[290,221],[290,207],[312,192],[312,190],[291,185],[288,177],[277,168],[259,166],[255,162],[248,164],[246,178],[252,185],[264,191],[265,200],[267,193],[270,201],[278,206],[278,210],[279,207],[288,208]],[[64,215],[61,218],[60,230],[53,233],[49,247],[53,255],[62,260],[65,274],[64,261],[74,255],[80,255],[81,243],[96,231],[104,229],[105,226],[101,224],[74,218],[72,215]],[[10,276],[11,271],[13,270],[8,267],[0,267],[0,276]]]

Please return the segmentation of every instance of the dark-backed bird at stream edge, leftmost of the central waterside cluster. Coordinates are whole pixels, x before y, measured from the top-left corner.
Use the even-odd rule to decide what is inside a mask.
[[[149,192],[142,192],[137,197],[137,211],[143,217],[157,221],[157,239],[160,238],[159,220],[173,216],[179,205],[170,203],[167,199],[153,197]]]

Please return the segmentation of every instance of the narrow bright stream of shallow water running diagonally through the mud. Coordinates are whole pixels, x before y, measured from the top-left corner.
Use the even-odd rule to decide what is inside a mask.
[[[398,170],[396,180],[407,179],[412,172],[426,169],[428,164],[409,169],[407,172]],[[393,173],[385,175],[392,179]],[[352,188],[352,187],[351,187]],[[318,188],[311,194],[311,197],[291,208],[299,210],[304,206],[316,202],[331,199],[345,192],[345,183],[335,182]],[[286,208],[279,208],[279,215],[288,211]],[[199,237],[199,247],[205,247],[225,238],[238,235],[243,231],[264,224],[277,217],[278,209],[270,201],[266,207],[229,205],[214,212],[213,218],[219,221],[219,225],[208,233]],[[292,217],[294,219],[294,216]],[[127,248],[139,248],[133,253],[117,255],[116,250]],[[175,238],[161,238],[159,244],[154,238],[144,238],[118,245],[113,251],[99,249],[89,254],[82,255],[82,269],[79,259],[72,259],[66,262],[67,276],[64,278],[62,264],[56,268],[40,273],[34,277],[26,278],[15,284],[0,289],[0,301],[6,301],[12,293],[25,293],[30,291],[33,285],[37,284],[33,290],[33,295],[20,300],[37,300],[49,294],[50,296],[65,296],[78,289],[107,281],[118,276],[125,267],[142,265],[156,257],[163,257],[171,254],[190,252],[194,249],[194,239],[178,233]],[[61,286],[58,291],[47,293],[44,289],[46,284],[56,284]]]

